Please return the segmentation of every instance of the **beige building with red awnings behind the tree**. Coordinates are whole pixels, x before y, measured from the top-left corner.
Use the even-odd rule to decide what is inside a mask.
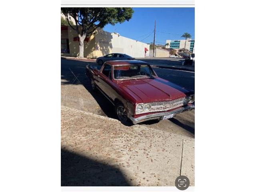
[[[110,53],[124,53],[134,58],[149,56],[149,44],[110,33],[98,28],[84,41],[84,57],[98,58]],[[79,38],[70,26],[61,26],[61,55],[78,56]]]

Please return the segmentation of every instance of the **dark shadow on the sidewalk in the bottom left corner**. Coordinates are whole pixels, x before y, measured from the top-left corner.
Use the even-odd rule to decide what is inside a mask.
[[[61,186],[130,186],[118,168],[61,150]]]

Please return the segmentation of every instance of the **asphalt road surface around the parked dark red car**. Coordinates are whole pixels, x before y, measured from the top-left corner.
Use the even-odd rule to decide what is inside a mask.
[[[149,60],[150,62],[147,62],[154,65],[163,62],[159,58]],[[167,58],[166,60],[173,62],[173,65],[178,65],[177,62],[180,64],[180,61],[176,58]],[[85,76],[85,66],[87,64],[96,63],[61,59],[61,104],[110,118],[117,118],[112,104],[101,93],[92,91],[90,80]],[[154,68],[154,70],[161,78],[186,89],[194,90],[194,72],[163,68]],[[161,120],[160,122],[148,121],[142,124],[151,128],[194,138],[194,110],[177,114],[172,119]]]

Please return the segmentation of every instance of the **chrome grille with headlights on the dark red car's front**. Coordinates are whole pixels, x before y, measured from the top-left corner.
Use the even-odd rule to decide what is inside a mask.
[[[146,104],[150,104],[151,105],[150,110],[146,110],[146,111],[142,110],[140,112],[136,111],[136,114],[142,114],[142,113],[148,113],[148,112],[158,112],[158,111],[168,111],[171,109],[175,109],[177,107],[183,106],[183,100],[184,100],[184,97],[178,98],[178,99],[175,99],[172,101],[143,103],[143,104],[140,104],[143,106],[143,108]]]

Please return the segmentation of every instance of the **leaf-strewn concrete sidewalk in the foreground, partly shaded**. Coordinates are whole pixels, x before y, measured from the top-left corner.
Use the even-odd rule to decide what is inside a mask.
[[[194,138],[61,106],[62,186],[194,186]]]

